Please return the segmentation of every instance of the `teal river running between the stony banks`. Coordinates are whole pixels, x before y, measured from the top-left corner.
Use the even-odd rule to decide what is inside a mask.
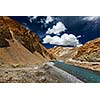
[[[74,75],[86,83],[100,83],[100,72],[81,68],[74,65],[65,64],[64,62],[53,61],[54,66]]]

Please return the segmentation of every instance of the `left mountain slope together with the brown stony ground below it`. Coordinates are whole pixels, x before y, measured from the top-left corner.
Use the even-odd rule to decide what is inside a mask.
[[[64,82],[46,65],[54,58],[35,33],[0,17],[0,82]]]

